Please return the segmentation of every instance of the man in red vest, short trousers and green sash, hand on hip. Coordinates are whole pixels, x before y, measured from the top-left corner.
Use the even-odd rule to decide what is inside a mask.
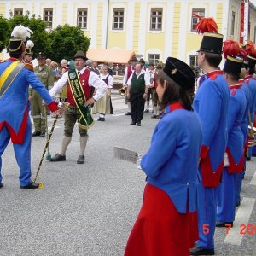
[[[84,105],[90,106],[104,96],[106,90],[108,90],[107,85],[96,73],[84,67],[86,60],[84,52],[79,50],[74,55],[75,70],[63,73],[61,79],[49,90],[49,94],[55,96],[67,84],[67,102],[70,104],[70,107],[65,109],[64,112],[64,137],[62,139],[61,151],[55,154],[51,161],[66,160],[67,146],[71,143],[73,127],[76,121],[79,121],[80,153],[77,164],[84,164],[84,151],[88,140],[87,130],[93,123],[90,108],[84,108]],[[96,95],[92,97],[90,97],[91,86],[96,88]]]

